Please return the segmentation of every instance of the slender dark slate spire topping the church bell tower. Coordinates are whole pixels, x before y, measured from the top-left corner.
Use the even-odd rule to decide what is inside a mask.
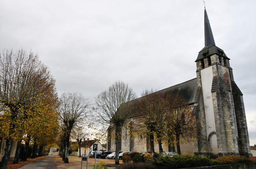
[[[204,44],[205,46],[215,45],[214,38],[211,32],[211,26],[208,19],[206,9],[204,8]]]

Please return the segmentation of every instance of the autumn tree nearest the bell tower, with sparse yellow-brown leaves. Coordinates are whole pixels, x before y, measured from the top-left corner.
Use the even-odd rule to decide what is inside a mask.
[[[168,140],[169,145],[173,146],[175,142],[177,153],[181,154],[180,143],[191,142],[196,137],[197,124],[195,114],[186,99],[181,96],[167,94],[165,99],[168,102],[165,107],[165,138]],[[181,137],[183,139],[182,142],[180,140]]]

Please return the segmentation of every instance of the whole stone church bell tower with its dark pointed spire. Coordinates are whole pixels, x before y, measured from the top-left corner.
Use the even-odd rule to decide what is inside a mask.
[[[215,45],[204,9],[205,47],[198,53],[197,109],[198,140],[195,153],[250,156],[243,94],[234,82],[229,58]]]

